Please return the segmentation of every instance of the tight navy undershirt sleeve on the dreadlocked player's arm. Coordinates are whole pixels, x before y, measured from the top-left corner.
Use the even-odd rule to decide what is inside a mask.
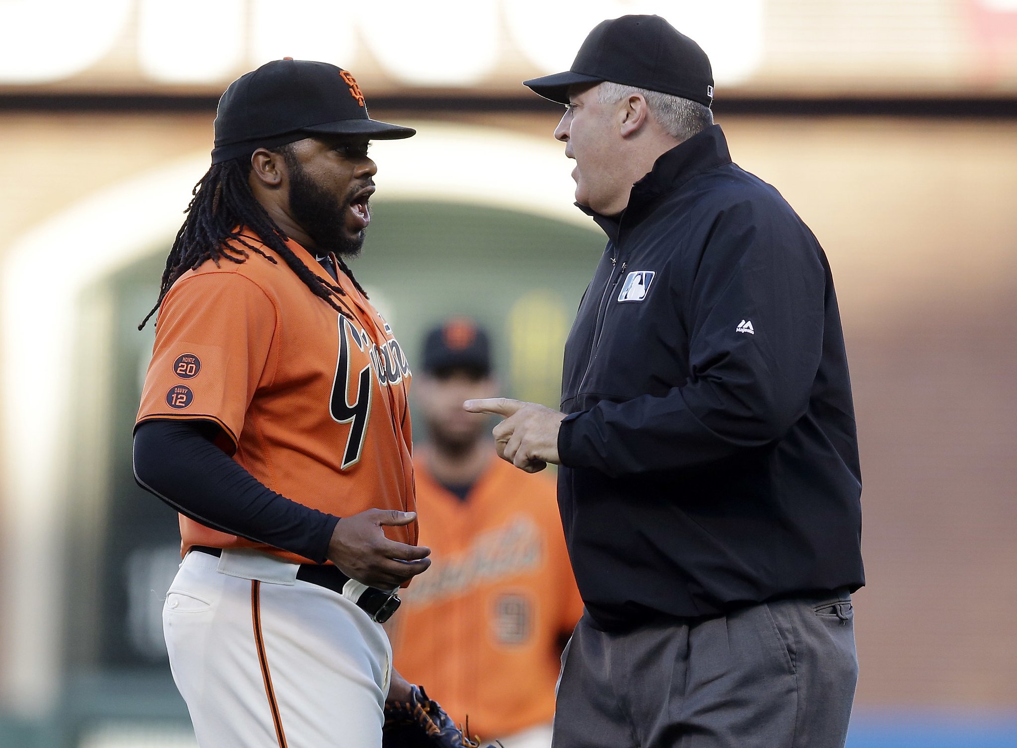
[[[323,563],[339,517],[271,491],[214,443],[210,421],[149,420],[134,433],[134,478],[206,527]]]

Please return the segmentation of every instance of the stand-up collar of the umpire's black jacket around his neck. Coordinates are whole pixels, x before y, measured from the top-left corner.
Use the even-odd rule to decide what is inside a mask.
[[[649,173],[633,185],[629,205],[617,216],[602,216],[579,203],[576,207],[617,243],[621,224],[638,222],[657,197],[673,192],[695,176],[730,163],[731,155],[723,130],[720,125],[711,125],[662,154]]]

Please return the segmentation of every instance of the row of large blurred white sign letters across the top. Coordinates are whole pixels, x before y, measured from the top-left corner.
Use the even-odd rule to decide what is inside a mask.
[[[128,24],[135,10],[137,23]],[[739,82],[759,67],[763,0],[586,0],[567,6],[391,0],[383,11],[336,0],[0,0],[6,32],[0,85],[93,73],[125,84],[140,78],[225,88],[268,60],[295,57],[353,70],[368,58],[403,85],[469,88],[494,77],[504,89],[524,76],[569,69],[586,35],[604,18],[654,12],[703,46],[718,82]]]

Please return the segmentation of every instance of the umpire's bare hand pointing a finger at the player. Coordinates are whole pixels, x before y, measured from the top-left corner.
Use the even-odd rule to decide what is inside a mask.
[[[564,413],[505,397],[467,400],[463,407],[471,413],[493,413],[504,418],[492,431],[502,460],[527,472],[543,470],[548,462],[560,462],[558,429]]]

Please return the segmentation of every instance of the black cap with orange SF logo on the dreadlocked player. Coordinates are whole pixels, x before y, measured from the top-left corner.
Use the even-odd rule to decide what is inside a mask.
[[[363,92],[349,70],[286,58],[266,62],[230,83],[216,112],[212,163],[315,134],[394,140],[416,132],[371,119]]]

